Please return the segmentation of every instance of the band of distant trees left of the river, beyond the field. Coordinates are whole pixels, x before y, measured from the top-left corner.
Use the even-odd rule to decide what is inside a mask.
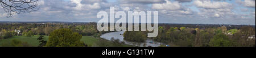
[[[0,25],[0,39],[10,38],[13,35],[27,37],[31,35],[49,35],[53,30],[63,28],[71,29],[81,35],[99,33],[96,29],[96,23],[0,23]]]

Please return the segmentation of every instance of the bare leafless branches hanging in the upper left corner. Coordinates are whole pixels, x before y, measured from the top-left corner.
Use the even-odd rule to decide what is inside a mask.
[[[7,12],[7,17],[13,14],[36,11],[39,9],[37,1],[39,0],[0,0],[3,10]]]

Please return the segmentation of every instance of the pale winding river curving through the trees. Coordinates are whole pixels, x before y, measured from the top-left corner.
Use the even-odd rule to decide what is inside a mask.
[[[154,42],[152,39],[147,39],[145,42],[143,43],[138,43],[138,42],[129,42],[129,41],[125,41],[123,39],[123,33],[125,33],[124,31],[121,32],[110,32],[110,33],[105,33],[101,35],[101,38],[107,39],[109,41],[111,41],[111,38],[114,39],[119,39],[119,41],[123,41],[125,42],[125,44],[129,44],[129,45],[133,45],[133,46],[138,46],[138,47],[145,47],[144,44],[146,44],[146,47],[151,46],[151,47],[158,47],[160,46],[160,42]]]

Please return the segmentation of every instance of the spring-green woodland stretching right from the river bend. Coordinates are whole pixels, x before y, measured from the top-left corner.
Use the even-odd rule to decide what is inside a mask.
[[[241,28],[227,29],[226,26],[210,28],[188,28],[159,26],[158,37],[147,38],[147,32],[125,32],[126,41],[144,42],[154,39],[169,46],[182,47],[255,47],[255,28],[242,26]]]

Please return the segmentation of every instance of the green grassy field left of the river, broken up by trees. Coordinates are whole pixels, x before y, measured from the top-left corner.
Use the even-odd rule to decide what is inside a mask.
[[[10,41],[12,39],[18,39],[22,42],[27,42],[28,44],[30,44],[30,46],[32,47],[37,47],[39,45],[39,41],[38,41],[38,38],[39,36],[33,36],[33,37],[25,37],[25,36],[14,36],[14,37],[11,37],[11,38],[7,38],[7,39],[0,39],[0,47],[3,46],[3,44],[10,44]],[[48,36],[44,35],[44,40],[48,41]],[[104,40],[104,39],[102,39]],[[84,42],[85,44],[87,44],[89,47],[92,47],[92,46],[100,46],[100,45],[97,45],[98,42],[100,42],[100,38],[95,38],[95,37],[92,37],[92,36],[82,36],[82,39],[81,39],[82,42]],[[111,41],[107,41],[105,40],[106,42],[110,43]],[[130,47],[129,45],[123,45],[124,47]]]

